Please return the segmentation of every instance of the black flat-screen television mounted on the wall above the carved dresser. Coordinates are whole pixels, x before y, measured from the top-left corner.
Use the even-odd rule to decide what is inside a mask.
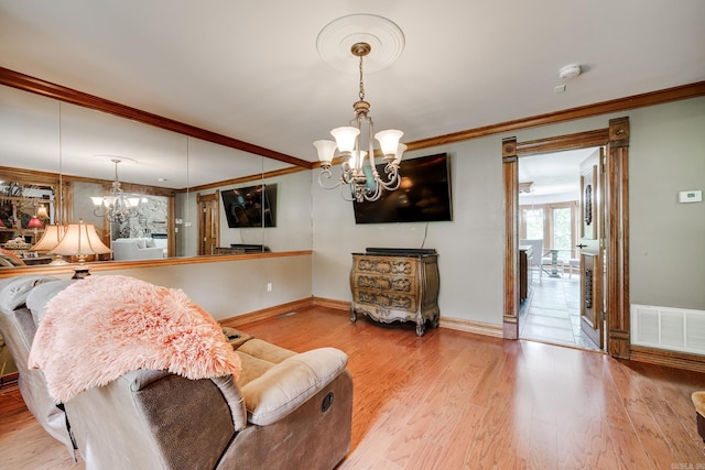
[[[377,165],[384,175],[384,165]],[[401,184],[373,201],[354,201],[356,223],[437,222],[453,220],[451,160],[447,154],[403,160]]]

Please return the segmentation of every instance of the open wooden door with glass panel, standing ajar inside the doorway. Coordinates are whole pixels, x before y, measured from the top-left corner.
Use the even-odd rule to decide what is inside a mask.
[[[604,288],[604,149],[581,163],[581,329],[605,348]]]

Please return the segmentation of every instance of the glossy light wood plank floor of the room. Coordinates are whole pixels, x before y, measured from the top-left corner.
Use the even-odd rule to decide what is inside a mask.
[[[351,324],[325,308],[240,329],[349,356],[352,441],[339,469],[705,469],[690,397],[705,374],[444,328],[417,338],[410,325]],[[84,468],[7,395],[0,459]]]

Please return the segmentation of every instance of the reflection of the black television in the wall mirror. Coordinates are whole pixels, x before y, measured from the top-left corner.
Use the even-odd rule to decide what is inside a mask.
[[[257,185],[220,192],[228,227],[276,227],[276,185]]]

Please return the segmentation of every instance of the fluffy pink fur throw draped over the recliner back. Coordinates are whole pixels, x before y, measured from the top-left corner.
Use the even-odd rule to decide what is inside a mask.
[[[137,369],[193,380],[241,369],[221,327],[186,294],[122,275],[86,277],[47,302],[29,365],[56,403]]]

